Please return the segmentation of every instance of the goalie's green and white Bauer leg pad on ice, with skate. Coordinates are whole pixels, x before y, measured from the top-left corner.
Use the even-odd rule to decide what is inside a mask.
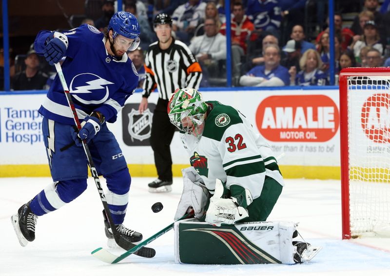
[[[321,249],[293,241],[292,222],[252,222],[215,226],[195,219],[175,223],[175,260],[188,264],[294,264]]]

